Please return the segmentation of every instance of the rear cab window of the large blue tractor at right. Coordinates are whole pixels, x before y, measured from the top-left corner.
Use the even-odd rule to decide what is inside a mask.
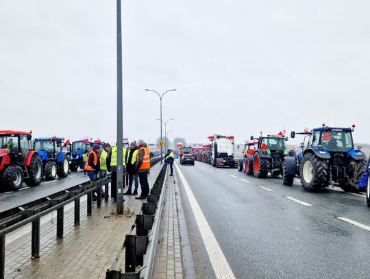
[[[328,151],[347,152],[354,148],[351,132],[323,131],[321,132],[321,146]]]

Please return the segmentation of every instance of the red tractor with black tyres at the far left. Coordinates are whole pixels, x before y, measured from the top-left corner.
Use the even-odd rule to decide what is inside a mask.
[[[32,150],[30,132],[0,131],[0,191],[18,191],[23,180],[37,186],[42,179],[42,161]]]

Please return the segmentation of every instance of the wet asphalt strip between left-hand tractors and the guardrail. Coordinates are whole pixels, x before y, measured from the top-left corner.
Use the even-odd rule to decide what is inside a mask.
[[[88,181],[88,175],[84,175],[84,171],[78,171],[70,173],[66,178],[42,181],[40,185],[34,187],[27,187],[23,184],[19,191],[0,193],[0,212],[32,202],[34,199],[47,197],[86,181]]]

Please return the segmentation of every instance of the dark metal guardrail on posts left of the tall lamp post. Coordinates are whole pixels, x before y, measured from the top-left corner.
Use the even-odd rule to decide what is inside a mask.
[[[160,162],[160,158],[152,158],[151,165]],[[17,206],[0,213],[0,279],[5,278],[5,236],[29,223],[32,223],[32,258],[40,257],[40,218],[57,211],[57,239],[63,239],[64,232],[64,206],[75,203],[75,226],[79,226],[80,198],[87,195],[87,215],[93,213],[93,191],[97,191],[97,208],[101,208],[101,187],[105,186],[108,193],[108,184],[111,182],[110,174],[103,179],[88,181],[59,191],[48,197],[36,199],[22,206]],[[108,202],[108,195],[105,195]]]

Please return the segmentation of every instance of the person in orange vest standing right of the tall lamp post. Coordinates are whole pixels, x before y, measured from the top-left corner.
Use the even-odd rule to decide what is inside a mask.
[[[146,199],[147,195],[149,195],[148,174],[150,171],[150,150],[143,140],[138,140],[138,154],[136,162],[141,186],[141,195],[135,199]]]

